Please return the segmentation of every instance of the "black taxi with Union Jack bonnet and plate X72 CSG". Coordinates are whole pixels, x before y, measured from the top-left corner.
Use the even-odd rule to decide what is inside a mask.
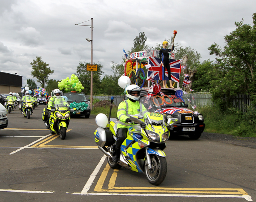
[[[190,139],[198,139],[204,131],[204,117],[188,109],[188,104],[175,95],[176,90],[178,89],[162,89],[164,95],[160,92],[154,95],[165,114],[178,118],[178,122],[173,126],[174,129],[170,130],[170,135],[188,135]]]

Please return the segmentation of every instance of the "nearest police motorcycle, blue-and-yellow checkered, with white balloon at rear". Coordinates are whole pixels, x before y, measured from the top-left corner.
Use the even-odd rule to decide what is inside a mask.
[[[112,104],[110,114],[111,107]],[[145,108],[148,112],[144,116],[130,115],[132,121],[130,123],[133,124],[122,143],[118,163],[112,160],[118,120],[110,119],[110,116],[107,118],[105,114],[98,114],[96,124],[99,127],[94,132],[94,139],[100,151],[107,156],[108,164],[112,169],[125,167],[144,173],[150,184],[159,185],[164,181],[167,173],[166,154],[163,151],[166,148],[165,142],[169,138],[169,130],[178,119],[165,116],[158,100],[153,96],[140,98],[140,112]]]

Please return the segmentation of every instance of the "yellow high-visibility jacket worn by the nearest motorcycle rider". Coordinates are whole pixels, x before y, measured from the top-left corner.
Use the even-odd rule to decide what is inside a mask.
[[[146,110],[144,105],[138,101],[132,102],[131,100],[128,99],[120,102],[117,110],[117,118],[119,119],[117,129],[121,127],[129,128],[133,125],[133,124],[125,123],[125,120],[127,118],[130,118],[130,115],[140,114],[144,116],[146,113],[149,113],[149,112]]]

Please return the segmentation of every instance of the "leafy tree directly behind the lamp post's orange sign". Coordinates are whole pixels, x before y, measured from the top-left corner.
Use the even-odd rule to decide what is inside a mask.
[[[98,71],[92,72],[92,88],[93,88],[93,94],[97,95],[102,93],[100,77],[104,74],[104,72],[102,71],[103,66],[100,63],[94,63],[94,64],[98,65]],[[90,65],[90,63],[79,62],[79,65],[76,67],[76,75],[84,86],[84,90],[82,91],[86,95],[90,95],[91,71],[86,71],[86,65]]]

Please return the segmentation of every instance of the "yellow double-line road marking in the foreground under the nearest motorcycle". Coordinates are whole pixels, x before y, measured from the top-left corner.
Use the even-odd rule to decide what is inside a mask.
[[[248,195],[240,188],[168,188],[168,187],[115,187],[117,172],[114,170],[110,178],[108,189],[102,186],[108,175],[110,166],[107,164],[94,188],[96,192],[156,192],[156,193],[182,193],[182,194],[230,194]]]

